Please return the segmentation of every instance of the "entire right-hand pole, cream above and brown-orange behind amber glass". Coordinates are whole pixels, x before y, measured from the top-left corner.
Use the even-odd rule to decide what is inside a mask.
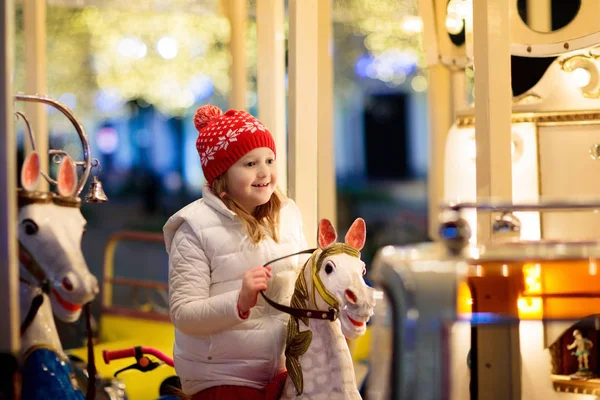
[[[512,200],[509,2],[473,0],[476,187],[478,199]],[[478,212],[477,242],[491,240],[490,213]],[[501,273],[470,279],[473,312],[495,312],[504,323],[472,333],[477,399],[521,400],[518,290]]]

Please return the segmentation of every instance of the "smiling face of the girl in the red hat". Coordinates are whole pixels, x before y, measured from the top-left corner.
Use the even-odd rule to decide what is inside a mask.
[[[227,196],[250,214],[271,198],[277,185],[275,154],[259,147],[240,158],[225,172]]]

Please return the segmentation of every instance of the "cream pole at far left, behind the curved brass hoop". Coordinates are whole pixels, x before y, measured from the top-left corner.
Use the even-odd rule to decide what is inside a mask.
[[[25,92],[45,95],[46,85],[46,0],[23,2],[25,31]],[[48,114],[42,103],[25,103],[25,115],[31,123],[35,146],[42,168],[48,166]],[[27,151],[31,144],[25,141]],[[48,182],[40,180],[38,190],[47,191]]]

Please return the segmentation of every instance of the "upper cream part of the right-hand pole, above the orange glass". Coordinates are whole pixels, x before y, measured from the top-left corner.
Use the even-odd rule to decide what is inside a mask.
[[[478,198],[512,199],[510,30],[506,0],[473,1],[475,141]],[[477,218],[478,242],[491,218]]]

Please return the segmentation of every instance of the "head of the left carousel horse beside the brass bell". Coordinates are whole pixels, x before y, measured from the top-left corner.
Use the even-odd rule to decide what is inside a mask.
[[[69,156],[62,158],[58,193],[36,191],[41,174],[39,156],[32,152],[23,164],[18,193],[21,279],[44,288],[58,319],[74,322],[82,305],[98,293],[81,250],[86,220],[80,210],[76,165]]]

